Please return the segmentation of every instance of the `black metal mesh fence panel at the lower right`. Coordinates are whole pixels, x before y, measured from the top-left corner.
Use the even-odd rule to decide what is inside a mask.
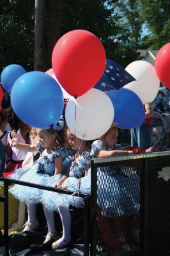
[[[170,152],[91,161],[91,255],[170,251]]]

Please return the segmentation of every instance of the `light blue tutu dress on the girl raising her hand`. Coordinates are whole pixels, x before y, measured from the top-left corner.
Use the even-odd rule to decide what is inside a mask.
[[[11,179],[22,180],[45,186],[49,185],[50,177],[54,175],[55,170],[54,159],[57,157],[62,157],[65,159],[66,150],[63,146],[57,145],[56,147],[52,148],[49,155],[45,156],[43,155],[45,148],[42,147],[40,141],[38,141],[36,144],[36,149],[40,153],[38,162],[33,166],[19,168],[15,173],[10,175]],[[61,174],[54,175],[54,177],[56,180],[59,180],[61,178]],[[12,193],[13,196],[15,196],[15,198],[17,198],[20,202],[38,204],[40,202],[40,195],[42,195],[43,190],[15,184],[13,188],[9,189],[9,192]]]

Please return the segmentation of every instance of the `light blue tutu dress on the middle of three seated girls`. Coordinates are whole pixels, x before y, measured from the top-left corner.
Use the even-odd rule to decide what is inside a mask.
[[[67,185],[69,190],[73,191],[72,195],[66,195],[55,192],[43,193],[41,203],[47,211],[58,211],[58,206],[64,206],[68,208],[70,205],[74,207],[81,207],[84,204],[83,198],[75,196],[74,193],[85,193],[89,195],[91,193],[91,171],[88,170],[88,175],[84,176],[86,164],[90,164],[91,157],[90,151],[86,150],[82,152],[79,163],[75,162],[72,157],[72,164],[70,166],[69,177],[63,182],[62,185]],[[51,184],[54,186],[54,184]]]

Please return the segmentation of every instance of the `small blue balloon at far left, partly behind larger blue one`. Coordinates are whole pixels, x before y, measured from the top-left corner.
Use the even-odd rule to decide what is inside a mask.
[[[3,85],[4,90],[11,93],[12,86],[15,81],[25,73],[26,70],[17,64],[8,65],[5,67],[1,73],[1,84]]]

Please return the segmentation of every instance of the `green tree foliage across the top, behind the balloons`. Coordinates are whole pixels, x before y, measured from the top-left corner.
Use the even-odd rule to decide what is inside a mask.
[[[91,31],[104,44],[107,58],[123,67],[140,59],[136,49],[158,49],[169,41],[166,0],[61,0],[59,10],[61,36],[73,29]],[[151,32],[144,38],[143,22]],[[33,70],[35,1],[1,0],[0,24],[1,69],[18,63]]]

